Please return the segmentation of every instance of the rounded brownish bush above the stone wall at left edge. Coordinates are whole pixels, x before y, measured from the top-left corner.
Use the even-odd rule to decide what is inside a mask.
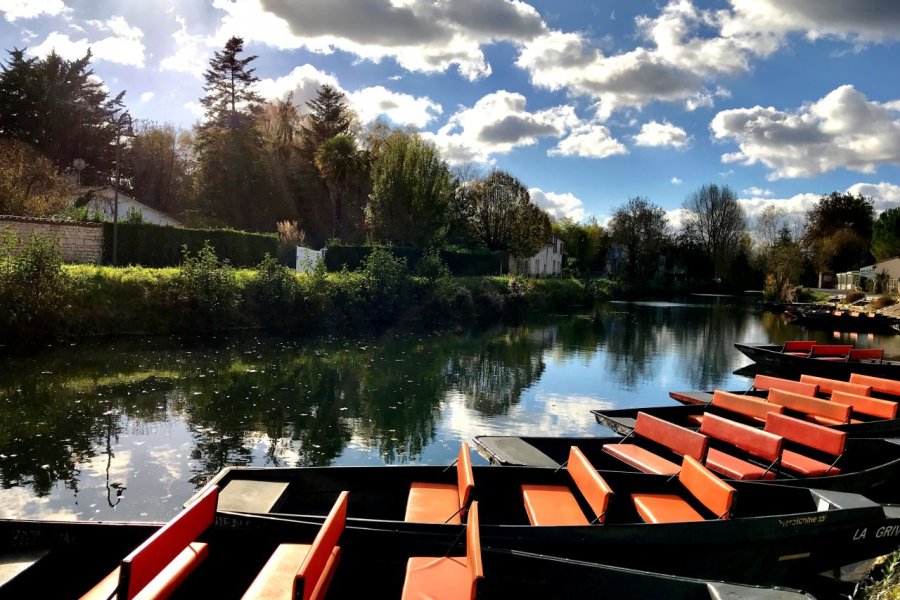
[[[0,214],[49,217],[69,203],[69,186],[30,145],[0,138]]]

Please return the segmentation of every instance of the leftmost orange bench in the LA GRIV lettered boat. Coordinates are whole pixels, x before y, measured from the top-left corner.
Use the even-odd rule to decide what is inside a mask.
[[[462,443],[456,460],[456,485],[414,481],[409,486],[406,516],[411,523],[462,523],[469,507],[475,476],[469,445]]]

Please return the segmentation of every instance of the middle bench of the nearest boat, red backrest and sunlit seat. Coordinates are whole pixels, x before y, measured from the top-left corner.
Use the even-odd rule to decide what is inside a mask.
[[[340,560],[337,542],[347,521],[347,497],[346,491],[338,495],[311,544],[279,544],[243,600],[324,598]]]

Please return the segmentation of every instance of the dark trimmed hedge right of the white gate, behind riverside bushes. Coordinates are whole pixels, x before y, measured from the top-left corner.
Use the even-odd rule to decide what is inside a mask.
[[[362,267],[363,261],[372,252],[373,246],[329,246],[325,252],[325,266],[329,271],[340,271],[346,267],[350,271],[357,271]],[[418,248],[391,246],[390,252],[398,257],[405,258],[410,271],[416,268],[422,258],[422,251]],[[457,277],[477,277],[482,275],[496,275],[500,272],[502,255],[499,252],[448,252],[441,251],[441,259],[447,263],[450,273]]]

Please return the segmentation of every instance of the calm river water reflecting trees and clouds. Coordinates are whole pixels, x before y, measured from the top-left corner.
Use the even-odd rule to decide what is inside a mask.
[[[736,341],[833,339],[731,302],[610,303],[475,335],[106,340],[4,359],[0,517],[165,520],[228,465],[442,464],[478,434],[608,435],[590,409],[749,387]],[[854,341],[900,355],[892,337]]]

